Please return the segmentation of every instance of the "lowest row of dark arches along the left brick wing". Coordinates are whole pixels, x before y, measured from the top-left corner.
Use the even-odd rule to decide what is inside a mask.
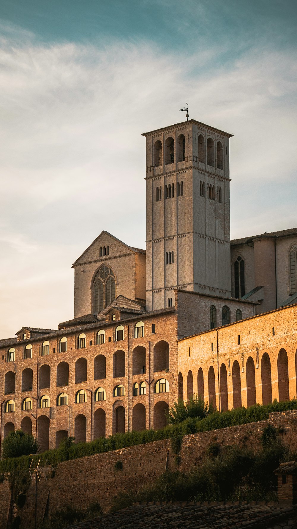
[[[126,409],[119,401],[116,407],[113,409],[113,434],[124,433],[126,430]],[[159,430],[163,428],[166,421],[166,413],[169,411],[168,403],[163,400],[159,400],[153,409],[153,428]],[[137,403],[132,409],[132,429],[135,431],[142,431],[146,428],[146,407],[142,403]],[[84,414],[76,415],[74,419],[74,435],[75,442],[86,442],[87,440],[87,417]],[[37,418],[37,440],[39,445],[39,451],[44,452],[49,450],[50,440],[50,419],[47,415],[41,415]],[[32,434],[32,420],[29,416],[22,419],[21,428],[25,433]],[[89,428],[91,425],[89,424]],[[15,425],[12,421],[4,424],[4,438],[15,430]],[[98,439],[99,437],[106,436],[106,412],[103,408],[98,408],[92,415],[92,438]],[[55,432],[55,448],[59,447],[59,444],[63,439],[67,439],[68,430],[58,430]]]

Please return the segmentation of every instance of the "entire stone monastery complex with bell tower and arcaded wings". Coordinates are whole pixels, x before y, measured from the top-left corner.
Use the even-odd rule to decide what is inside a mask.
[[[297,229],[230,241],[231,134],[143,135],[146,251],[101,232],[73,264],[74,318],[0,340],[0,444],[160,428],[193,393],[220,410],[297,394]]]

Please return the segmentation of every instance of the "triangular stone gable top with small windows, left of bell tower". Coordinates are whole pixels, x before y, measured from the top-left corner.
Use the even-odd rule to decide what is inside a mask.
[[[105,257],[119,257],[123,254],[133,254],[134,249],[120,241],[107,231],[98,235],[81,256],[73,263],[73,267],[85,265],[88,262],[99,261]]]

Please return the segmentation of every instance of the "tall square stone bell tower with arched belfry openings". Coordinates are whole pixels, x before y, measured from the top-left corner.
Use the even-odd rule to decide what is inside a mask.
[[[195,120],[146,138],[146,307],[175,288],[231,295],[229,138]]]

